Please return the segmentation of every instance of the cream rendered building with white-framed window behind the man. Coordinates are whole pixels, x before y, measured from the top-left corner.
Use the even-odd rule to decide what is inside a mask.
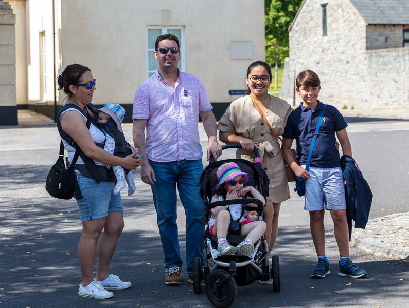
[[[17,107],[54,118],[63,100],[55,76],[80,63],[97,80],[93,103],[121,104],[125,121],[132,121],[135,89],[157,68],[155,39],[168,32],[180,39],[180,69],[199,76],[216,114],[247,88],[248,65],[265,57],[262,0],[8,0],[8,5],[15,15],[10,64],[15,86],[9,87],[16,89],[15,119]],[[4,48],[0,43],[0,65],[7,60]]]

